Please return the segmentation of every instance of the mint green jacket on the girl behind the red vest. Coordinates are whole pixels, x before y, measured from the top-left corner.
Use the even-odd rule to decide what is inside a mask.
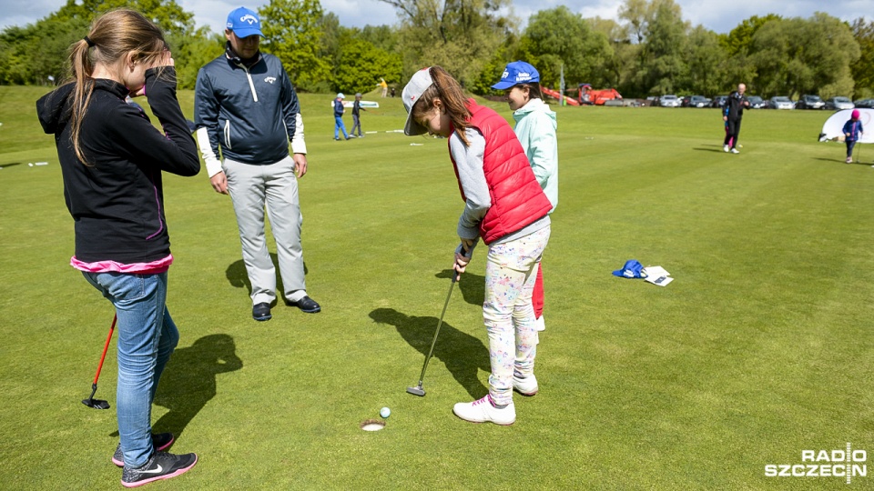
[[[513,112],[515,132],[528,155],[534,176],[543,188],[553,210],[558,205],[558,139],[555,113],[543,99],[531,99]],[[553,210],[550,210],[552,213]]]

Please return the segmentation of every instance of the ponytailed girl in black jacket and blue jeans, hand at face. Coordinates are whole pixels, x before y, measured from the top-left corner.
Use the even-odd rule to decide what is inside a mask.
[[[168,45],[143,15],[101,15],[71,46],[70,62],[72,80],[40,98],[36,111],[55,135],[75,223],[70,265],[116,309],[121,442],[112,462],[124,467],[123,486],[142,486],[198,462],[195,454],[163,452],[174,436],[153,434],[151,425],[158,381],[179,339],[166,306],[173,255],[161,175],[198,174],[198,147],[179,108]],[[164,133],[127,95],[147,96]]]

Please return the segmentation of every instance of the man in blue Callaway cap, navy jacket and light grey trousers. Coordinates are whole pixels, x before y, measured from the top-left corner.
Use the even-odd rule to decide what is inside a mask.
[[[277,294],[265,238],[265,204],[282,295],[290,306],[309,314],[321,307],[307,296],[300,243],[303,215],[297,180],[307,173],[307,150],[298,95],[279,58],[259,51],[261,35],[255,11],[239,7],[228,15],[225,53],[198,72],[194,113],[209,180],[217,192],[230,195],[237,215],[252,285],[252,318],[266,321]]]

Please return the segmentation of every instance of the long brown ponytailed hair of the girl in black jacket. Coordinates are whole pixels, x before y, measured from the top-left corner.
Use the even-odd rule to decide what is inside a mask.
[[[88,165],[79,146],[79,135],[82,119],[94,93],[94,78],[91,75],[94,74],[95,65],[116,65],[128,54],[133,61],[153,63],[167,49],[167,42],[158,26],[144,15],[126,8],[97,17],[88,35],[70,46],[72,74],[67,83],[75,84],[70,109],[70,139],[73,141],[76,157],[83,164]]]

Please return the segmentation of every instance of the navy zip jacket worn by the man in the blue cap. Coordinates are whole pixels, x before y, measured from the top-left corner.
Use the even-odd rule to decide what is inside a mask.
[[[252,165],[289,156],[299,112],[298,95],[274,55],[259,54],[246,65],[228,48],[198,72],[194,123],[208,170],[220,168],[219,149],[223,158]]]

